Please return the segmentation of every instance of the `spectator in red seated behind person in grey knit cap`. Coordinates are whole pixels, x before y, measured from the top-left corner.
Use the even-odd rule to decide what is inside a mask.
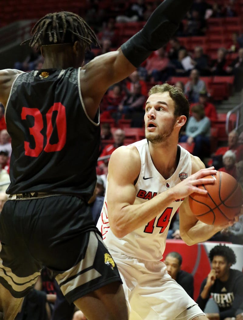
[[[236,130],[232,130],[228,134],[228,145],[218,148],[209,160],[208,165],[213,165],[216,170],[223,167],[223,155],[226,151],[232,150],[236,155],[236,162],[243,160],[243,145],[238,143],[239,134]]]

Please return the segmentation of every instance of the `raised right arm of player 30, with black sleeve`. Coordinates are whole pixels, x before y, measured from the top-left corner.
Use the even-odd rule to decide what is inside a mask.
[[[115,52],[103,54],[82,68],[80,81],[84,96],[99,104],[110,85],[129,76],[151,52],[161,48],[174,34],[193,0],[164,0],[145,26]]]

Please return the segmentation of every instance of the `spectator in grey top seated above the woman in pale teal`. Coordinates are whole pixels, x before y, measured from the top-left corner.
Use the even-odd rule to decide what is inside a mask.
[[[206,91],[206,84],[200,79],[200,73],[197,69],[193,69],[190,73],[190,80],[185,85],[185,94],[189,102],[199,102],[199,93]]]

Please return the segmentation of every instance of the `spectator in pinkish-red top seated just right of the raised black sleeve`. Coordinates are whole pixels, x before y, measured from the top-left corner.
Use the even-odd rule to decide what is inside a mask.
[[[164,48],[160,48],[156,51],[156,55],[146,60],[148,79],[151,82],[165,82],[170,76],[169,66],[170,60],[166,57]]]

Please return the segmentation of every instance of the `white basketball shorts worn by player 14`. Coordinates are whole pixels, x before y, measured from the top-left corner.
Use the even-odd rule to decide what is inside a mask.
[[[123,281],[129,320],[192,320],[205,315],[168,275],[162,261],[145,261],[109,251]]]

